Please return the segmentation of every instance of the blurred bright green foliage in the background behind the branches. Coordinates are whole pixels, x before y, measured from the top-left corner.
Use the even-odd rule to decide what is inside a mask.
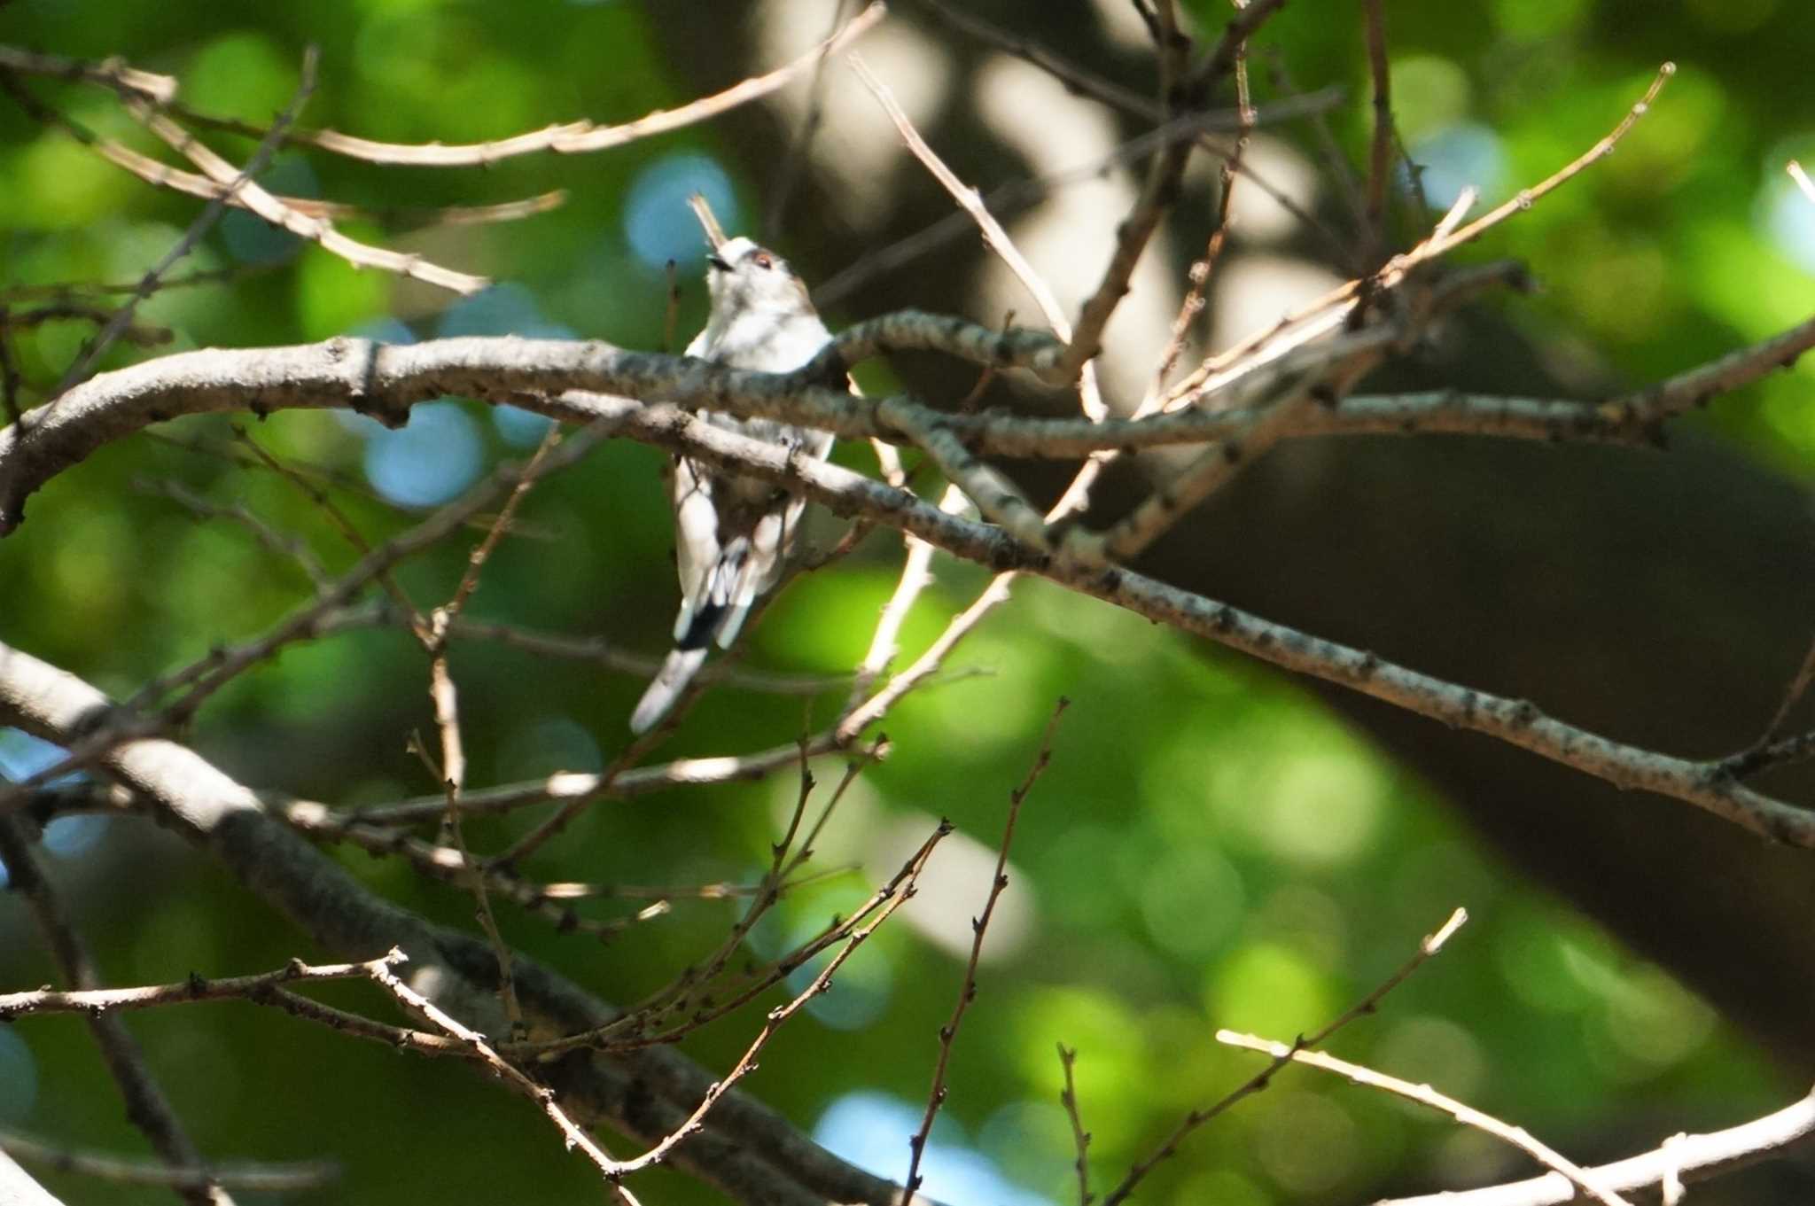
[[[1221,5],[1209,0],[1189,7],[1221,20]],[[1782,163],[1815,156],[1815,129],[1793,125],[1782,98],[1806,91],[1815,9],[1788,0],[1387,7],[1407,143],[1418,154],[1463,127],[1485,132],[1499,163],[1488,203],[1575,156],[1643,92],[1657,62],[1679,62],[1663,103],[1612,160],[1472,252],[1519,256],[1545,281],[1543,296],[1508,303],[1506,314],[1563,379],[1606,386],[1666,375],[1806,316],[1815,223],[1786,209]],[[828,16],[813,9],[797,20],[822,29]],[[123,54],[176,74],[187,103],[254,122],[287,103],[301,47],[314,42],[321,85],[307,123],[412,141],[481,140],[577,116],[624,120],[688,98],[632,4],[327,0],[223,9],[200,0],[16,0],[0,13],[0,36],[73,56]],[[1361,34],[1349,15],[1287,5],[1263,44],[1300,85],[1336,80],[1365,96]],[[31,87],[83,125],[152,151],[109,96]],[[1359,161],[1367,105],[1352,103],[1336,123]],[[220,143],[247,149],[245,140]],[[234,267],[236,279],[165,290],[140,316],[169,326],[174,348],[450,330],[572,332],[657,346],[662,276],[659,261],[632,245],[626,198],[652,169],[675,156],[710,165],[717,149],[708,125],[608,154],[517,158],[483,172],[374,169],[287,151],[270,170],[274,189],[378,210],[494,203],[557,187],[570,196],[552,214],[494,227],[399,232],[403,223],[385,214],[348,225],[356,238],[495,276],[506,285],[494,290],[494,310],[461,310],[423,287],[358,272],[236,214],[180,268]],[[0,105],[0,287],[132,279],[196,212],[192,199],[143,187],[11,105]],[[728,219],[760,212],[764,181],[730,187],[741,205]],[[1403,218],[1407,230],[1423,221]],[[699,323],[701,290],[695,268],[682,272],[684,339]],[[829,317],[837,325],[855,316]],[[18,332],[25,381],[54,383],[87,334],[73,323]],[[142,355],[116,348],[109,365]],[[1806,473],[1815,464],[1811,374],[1815,361],[1804,359],[1697,421]],[[457,437],[399,455],[468,477],[523,455],[523,430],[494,419],[457,403],[437,421]],[[274,455],[312,466],[319,481],[339,482],[338,504],[368,539],[410,522],[370,486],[379,479],[374,441],[388,435],[365,424],[312,412],[165,424],[109,446],[33,499],[31,522],[0,544],[0,638],[129,693],[218,642],[263,631],[309,598],[294,562],[240,526],[196,522],[169,499],[136,491],[142,479],[182,482],[223,506],[241,502],[307,540],[330,571],[350,566],[356,551],[307,497],[245,464],[232,423],[249,424],[250,439]],[[450,455],[448,441],[468,448],[470,466],[436,461]],[[673,582],[657,464],[650,450],[608,446],[539,486],[523,511],[528,535],[492,560],[472,615],[659,649]],[[445,598],[466,544],[410,562],[399,580],[419,604]],[[898,544],[878,537],[799,580],[755,633],[755,662],[848,667],[893,588],[897,560]],[[982,571],[947,560],[937,571],[906,627],[909,653],[984,582]],[[599,767],[623,745],[641,689],[488,644],[457,646],[452,664],[474,785]],[[1321,1025],[1457,903],[1474,921],[1378,1017],[1343,1034],[1338,1052],[1428,1079],[1552,1139],[1592,1139],[1614,1119],[1655,1123],[1646,1133],[1663,1135],[1739,1121],[1784,1099],[1784,1086],[1706,1007],[1508,880],[1425,785],[1296,686],[1038,582],[1020,584],[955,666],[987,675],[927,689],[889,718],[893,754],[853,791],[822,861],[886,872],[900,834],[920,836],[937,816],[957,822],[960,841],[993,847],[1007,791],[1033,758],[1055,698],[1076,700],[1013,852],[1009,900],[1025,929],[986,965],[940,1132],[953,1152],[980,1150],[1015,1184],[1049,1201],[1071,1191],[1055,1045],[1080,1052],[1093,1170],[1107,1184],[1183,1110],[1258,1066],[1216,1046],[1218,1026],[1290,1037]],[[813,718],[824,720],[835,704],[820,700]],[[757,749],[788,740],[800,724],[786,698],[722,691],[697,709],[675,753]],[[405,749],[407,736],[428,725],[419,649],[397,631],[361,631],[290,649],[223,691],[198,718],[194,740],[260,787],[354,805],[432,789]],[[777,776],[601,803],[526,870],[628,883],[748,881],[793,793],[791,778]],[[468,840],[499,849],[528,823],[474,823]],[[339,858],[387,896],[470,925],[465,898],[401,863]],[[140,823],[114,825],[62,872],[113,983],[247,972],[312,954],[207,860]],[[929,934],[957,930],[962,941],[986,874],[926,892],[909,910],[920,923],[884,930],[840,990],[782,1032],[750,1088],[802,1128],[855,1092],[924,1101],[935,1030],[960,979],[960,954]],[[773,950],[860,892],[855,874],[802,890],[753,945]],[[508,912],[505,929],[521,948],[623,1001],[708,948],[730,916],[726,903],[679,901],[672,916],[604,948]],[[0,903],[0,981],[49,979],[16,903]],[[354,988],[329,996],[374,1008]],[[684,1046],[722,1068],[755,1025],[746,1016]],[[466,1068],[399,1061],[252,1007],[149,1012],[132,1028],[207,1152],[347,1161],[343,1184],[292,1201],[456,1204],[594,1191],[584,1164],[561,1157],[534,1110]],[[0,1121],[80,1146],[140,1150],[74,1019],[0,1032]],[[891,1143],[898,1166],[882,1172],[900,1177],[906,1128]],[[1196,1135],[1154,1173],[1143,1199],[1350,1201],[1388,1182],[1496,1172],[1517,1168],[1439,1121],[1309,1074],[1281,1075],[1269,1094]],[[938,1161],[929,1173],[927,1188],[940,1195]],[[143,1201],[138,1191],[49,1182],[71,1201]],[[966,1191],[944,1193],[967,1201]],[[1719,1193],[1706,1201],[1722,1201]],[[648,1186],[648,1201],[708,1199],[668,1173]]]

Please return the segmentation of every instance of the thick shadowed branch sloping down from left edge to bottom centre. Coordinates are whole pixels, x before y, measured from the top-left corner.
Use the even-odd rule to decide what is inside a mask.
[[[105,724],[113,700],[54,666],[0,644],[0,724],[69,744]],[[374,896],[281,822],[258,794],[185,745],[138,740],[113,749],[103,769],[149,800],[174,829],[203,845],[254,894],[283,910],[327,950],[365,958],[392,945],[408,954],[410,979],[443,1010],[479,1032],[501,1034],[497,961],[485,941],[430,925]],[[532,1039],[612,1021],[613,1010],[561,974],[517,956],[517,996]],[[666,1048],[604,1057],[572,1052],[537,1066],[563,1106],[588,1126],[608,1124],[644,1141],[677,1130],[715,1077]],[[742,1202],[898,1206],[900,1188],[864,1173],[793,1130],[768,1106],[726,1094],[704,1130],[673,1152],[673,1164]]]

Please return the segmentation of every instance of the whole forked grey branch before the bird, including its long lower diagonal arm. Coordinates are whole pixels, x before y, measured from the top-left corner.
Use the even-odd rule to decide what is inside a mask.
[[[1330,341],[1329,355],[1341,354],[1341,341]],[[1481,421],[1479,430],[1535,433],[1539,430],[1630,435],[1648,432],[1686,399],[1702,397],[1706,388],[1730,388],[1764,375],[1815,345],[1815,319],[1735,352],[1715,365],[1690,370],[1681,377],[1634,395],[1632,401],[1601,406],[1570,406],[1512,399],[1468,399],[1463,395],[1425,395],[1419,399],[1358,399],[1320,413],[1307,408],[1307,424],[1336,430],[1343,415],[1361,430],[1392,430],[1423,415],[1465,428],[1463,415]],[[824,426],[844,435],[882,435],[900,439],[888,426],[893,406],[920,406],[913,399],[858,399],[842,390],[819,386],[831,363],[842,365],[839,352],[869,354],[893,346],[933,346],[973,359],[1000,361],[1040,370],[1055,366],[1060,345],[1038,332],[993,332],[958,319],[900,314],[862,323],[839,337],[822,359],[788,375],[739,374],[704,361],[643,352],[623,352],[599,343],[548,343],[526,339],[445,339],[425,345],[388,346],[367,341],[334,339],[301,348],[249,352],[192,352],[105,374],[83,383],[53,404],[29,412],[18,424],[0,430],[0,531],[20,520],[24,497],[58,470],[80,461],[109,439],[145,423],[250,406],[256,413],[278,406],[352,406],[392,423],[407,415],[407,406],[441,394],[470,394],[512,399],[543,413],[594,421],[603,433],[650,443],[686,453],[713,468],[760,477],[800,490],[829,510],[864,517],[909,531],[955,557],[996,571],[1024,569],[1064,586],[1094,595],[1151,620],[1232,646],[1285,669],[1349,686],[1363,695],[1396,704],[1448,725],[1474,729],[1514,745],[1572,765],[1621,787],[1639,787],[1675,796],[1744,829],[1791,845],[1815,847],[1815,812],[1775,800],[1741,783],[1722,760],[1693,762],[1626,745],[1577,729],[1541,713],[1534,704],[1476,691],[1461,684],[1394,666],[1376,655],[1316,638],[1261,617],[1243,613],[1202,595],[1176,589],[1145,575],[1105,569],[1089,559],[1051,557],[1000,528],[947,515],[913,493],[882,484],[835,464],[790,457],[777,444],[748,439],[702,423],[677,406],[702,406],[731,413],[764,413]],[[1318,345],[1300,348],[1294,357],[1323,355]],[[1303,359],[1285,357],[1278,370],[1298,370]],[[1236,390],[1263,390],[1272,384],[1274,368],[1249,374],[1232,383]],[[1692,383],[1693,388],[1681,384]],[[583,390],[554,394],[568,386],[608,390],[604,397]],[[644,406],[623,395],[666,397],[675,404]],[[1555,408],[1555,410],[1552,410]],[[938,413],[938,412],[929,412]],[[1076,450],[1104,446],[1091,437],[1134,441],[1151,432],[1167,432],[1172,441],[1178,424],[1216,423],[1231,437],[1240,424],[1258,415],[1205,417],[1192,412],[1156,415],[1125,426],[1116,421],[1031,421],[1018,417],[976,417],[966,426],[964,415],[940,421],[987,450],[1029,446],[1053,433],[1051,446]],[[1634,426],[1637,424],[1637,428]],[[1107,432],[1104,428],[1109,428]],[[1470,430],[1470,428],[1465,428]],[[1074,443],[1058,439],[1064,435]],[[1020,443],[1016,443],[1020,441]],[[849,740],[851,731],[840,729]]]

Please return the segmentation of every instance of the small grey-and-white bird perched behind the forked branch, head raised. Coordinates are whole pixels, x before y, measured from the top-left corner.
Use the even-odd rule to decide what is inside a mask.
[[[780,256],[750,239],[719,243],[706,258],[706,288],[711,316],[688,345],[688,355],[751,372],[791,372],[831,341],[800,277]],[[799,448],[815,461],[831,452],[829,432],[773,419],[701,413],[708,423]],[[706,662],[713,640],[722,649],[731,646],[750,604],[780,577],[806,508],[806,499],[770,482],[715,475],[686,457],[673,461],[670,495],[681,615],[675,617],[673,651],[630,715],[632,733],[644,733],[668,715],[681,689]]]

